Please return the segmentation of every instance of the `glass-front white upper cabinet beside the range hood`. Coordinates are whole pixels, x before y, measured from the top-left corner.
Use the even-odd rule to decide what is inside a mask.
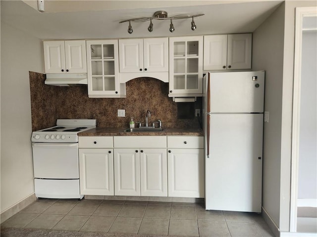
[[[119,79],[118,40],[87,40],[88,96],[124,98]]]

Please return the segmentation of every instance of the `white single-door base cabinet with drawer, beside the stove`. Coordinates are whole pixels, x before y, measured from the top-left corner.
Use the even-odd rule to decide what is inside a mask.
[[[114,195],[112,137],[79,137],[82,195]]]

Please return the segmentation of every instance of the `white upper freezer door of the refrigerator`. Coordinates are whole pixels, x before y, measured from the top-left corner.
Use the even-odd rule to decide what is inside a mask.
[[[211,113],[263,113],[264,71],[210,74]]]

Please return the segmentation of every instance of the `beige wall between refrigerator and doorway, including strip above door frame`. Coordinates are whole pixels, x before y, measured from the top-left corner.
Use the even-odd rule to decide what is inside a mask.
[[[316,1],[285,1],[254,32],[253,70],[265,70],[263,207],[280,231],[289,231],[291,122],[295,7]]]

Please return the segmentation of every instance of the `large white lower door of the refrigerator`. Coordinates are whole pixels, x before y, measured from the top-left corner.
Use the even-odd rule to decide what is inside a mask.
[[[263,114],[212,114],[206,209],[261,212]]]

